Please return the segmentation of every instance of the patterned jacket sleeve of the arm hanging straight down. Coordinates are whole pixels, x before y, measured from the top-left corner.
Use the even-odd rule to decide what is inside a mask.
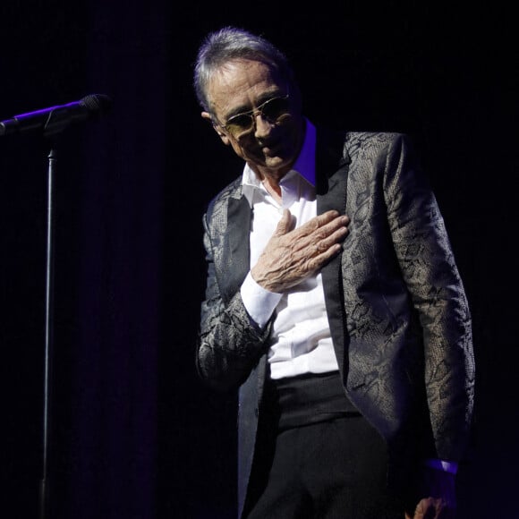
[[[472,322],[437,200],[404,136],[389,147],[384,193],[396,257],[423,330],[424,377],[439,457],[457,460],[472,420]]]

